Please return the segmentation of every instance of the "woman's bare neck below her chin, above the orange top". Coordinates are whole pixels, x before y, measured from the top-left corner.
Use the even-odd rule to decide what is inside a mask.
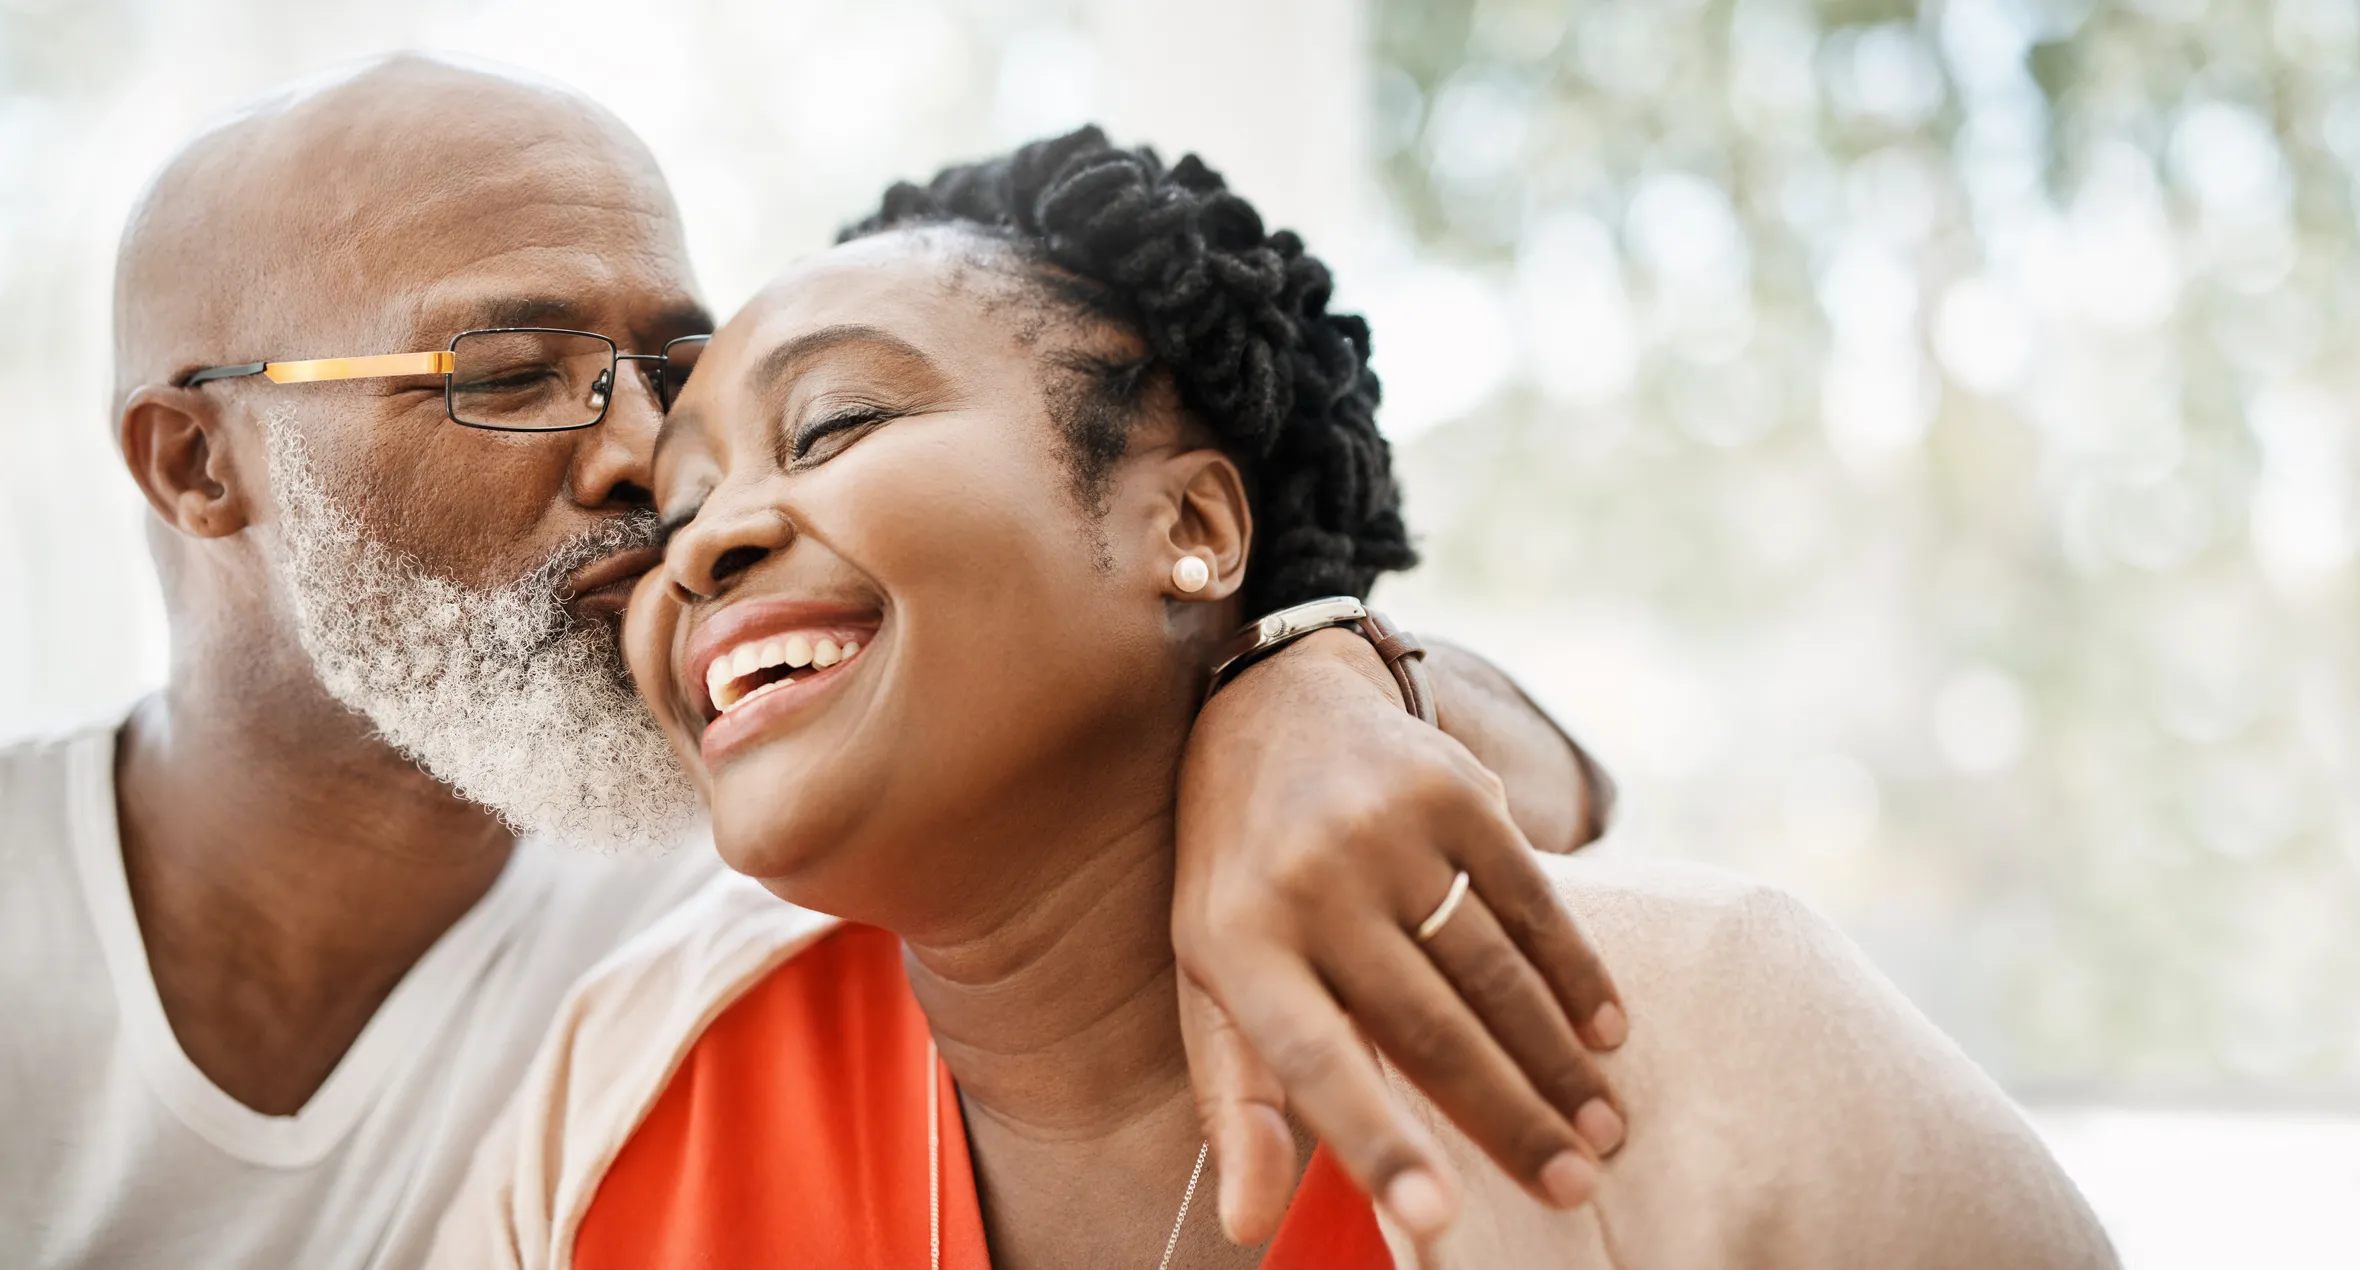
[[[989,932],[909,944],[958,1079],[994,1265],[1154,1265],[1201,1131],[1171,949],[1171,810]],[[1173,1265],[1253,1265],[1199,1185]]]

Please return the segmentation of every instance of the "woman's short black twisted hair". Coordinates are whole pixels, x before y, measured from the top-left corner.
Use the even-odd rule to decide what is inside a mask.
[[[1246,614],[1319,595],[1366,595],[1416,564],[1376,432],[1369,323],[1326,309],[1326,264],[1293,231],[1263,231],[1194,153],[1166,168],[1097,127],[899,182],[838,241],[951,224],[1045,264],[1053,300],[1133,328],[1147,361],[1067,364],[1081,387],[1053,392],[1081,489],[1126,453],[1142,389],[1168,375],[1180,404],[1246,472],[1256,533]],[[1090,496],[1095,500],[1095,496]]]

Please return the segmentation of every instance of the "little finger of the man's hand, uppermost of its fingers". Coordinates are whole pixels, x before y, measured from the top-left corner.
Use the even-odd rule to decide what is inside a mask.
[[[1574,1020],[1581,1043],[1591,1050],[1619,1048],[1631,1022],[1605,958],[1598,956],[1598,947],[1581,932],[1574,916],[1565,911],[1565,899],[1558,897],[1558,888],[1551,885],[1515,824],[1506,817],[1484,819],[1489,824],[1470,817],[1466,838],[1456,843],[1475,895],[1492,909],[1506,940],[1520,949],[1517,961],[1536,968],[1546,980],[1565,1017]],[[1435,940],[1440,942],[1440,935]],[[1458,977],[1454,975],[1454,980]],[[1484,1017],[1496,1020],[1499,1015],[1484,1010]]]

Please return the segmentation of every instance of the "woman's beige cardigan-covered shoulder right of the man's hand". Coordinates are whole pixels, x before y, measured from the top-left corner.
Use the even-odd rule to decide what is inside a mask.
[[[1808,904],[1699,864],[1543,869],[1631,1013],[1602,1055],[1631,1117],[1600,1192],[1626,1256],[2112,1265],[1999,1086]]]

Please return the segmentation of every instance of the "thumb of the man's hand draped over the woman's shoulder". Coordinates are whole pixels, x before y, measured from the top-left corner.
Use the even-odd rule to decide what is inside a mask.
[[[1296,1138],[1286,1091],[1201,984],[1180,975],[1180,1039],[1187,1046],[1197,1117],[1213,1143],[1220,1228],[1232,1244],[1279,1232],[1296,1194]]]

